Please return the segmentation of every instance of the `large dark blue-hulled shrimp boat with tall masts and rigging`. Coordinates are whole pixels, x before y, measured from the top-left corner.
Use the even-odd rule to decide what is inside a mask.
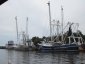
[[[38,44],[38,49],[40,51],[44,51],[44,52],[56,52],[56,51],[78,51],[79,45],[77,44],[77,42],[75,41],[75,37],[72,33],[72,29],[71,26],[73,23],[69,23],[69,30],[66,33],[66,37],[67,37],[67,42],[66,42],[66,38],[64,37],[63,34],[63,8],[61,7],[61,12],[62,12],[62,23],[61,23],[61,27],[62,27],[62,34],[61,34],[61,40],[59,40],[59,21],[57,21],[57,24],[52,23],[51,21],[51,12],[50,12],[50,2],[48,3],[49,6],[49,23],[50,23],[50,39],[51,41],[43,41],[41,44]],[[52,26],[57,26],[57,37],[53,40],[53,36],[52,36]],[[55,36],[55,35],[54,35]],[[55,40],[58,40],[55,42]],[[71,41],[73,39],[73,41]]]

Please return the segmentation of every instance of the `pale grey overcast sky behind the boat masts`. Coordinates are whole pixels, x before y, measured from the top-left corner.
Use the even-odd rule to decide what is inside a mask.
[[[33,36],[49,36],[49,0],[8,0],[0,6],[0,45],[8,40],[16,41],[16,22],[19,32],[25,31],[26,17],[29,18],[28,32]],[[50,0],[52,20],[61,21],[61,5],[64,8],[64,23],[79,23],[85,34],[85,0]]]

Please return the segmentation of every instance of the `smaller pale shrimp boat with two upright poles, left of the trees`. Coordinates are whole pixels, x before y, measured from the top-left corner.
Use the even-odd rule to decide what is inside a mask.
[[[29,35],[28,35],[28,17],[26,20],[26,32],[20,32],[18,33],[18,23],[17,23],[17,17],[15,17],[16,20],[16,31],[17,31],[17,43],[14,47],[15,50],[20,51],[28,51],[29,50]]]

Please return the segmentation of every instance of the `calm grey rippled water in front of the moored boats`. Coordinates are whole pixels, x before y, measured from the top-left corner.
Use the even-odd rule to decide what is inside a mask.
[[[85,64],[85,53],[39,53],[0,50],[0,64]]]

